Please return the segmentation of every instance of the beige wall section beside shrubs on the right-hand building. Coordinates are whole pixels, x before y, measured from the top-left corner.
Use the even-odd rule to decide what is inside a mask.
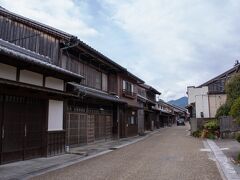
[[[227,95],[209,95],[209,108],[210,108],[210,117],[214,118],[217,112],[217,109],[226,102]]]

